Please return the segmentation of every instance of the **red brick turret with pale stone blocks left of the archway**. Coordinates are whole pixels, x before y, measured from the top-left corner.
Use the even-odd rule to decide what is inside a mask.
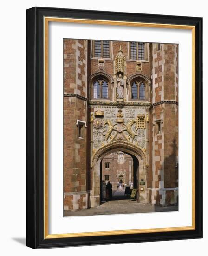
[[[87,124],[87,40],[64,39],[64,192],[80,192],[78,209],[86,207],[87,129],[78,137],[78,120]],[[65,195],[64,205],[74,209],[73,195]]]

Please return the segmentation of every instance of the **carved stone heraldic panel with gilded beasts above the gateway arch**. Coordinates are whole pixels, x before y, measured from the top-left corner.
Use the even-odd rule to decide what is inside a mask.
[[[117,102],[123,103],[124,101]],[[91,113],[94,142],[92,147],[98,150],[111,142],[121,141],[139,146],[144,151],[146,146],[145,129],[148,120],[146,110],[134,106],[118,107],[120,105],[97,106]],[[103,119],[103,115],[106,119]]]

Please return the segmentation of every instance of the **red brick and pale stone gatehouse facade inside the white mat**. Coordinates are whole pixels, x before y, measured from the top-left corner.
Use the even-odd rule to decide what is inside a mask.
[[[94,41],[64,39],[64,210],[99,205],[106,161],[110,182],[134,182],[137,202],[177,204],[178,45],[145,43],[142,60],[130,42],[110,41],[107,58],[94,51]]]

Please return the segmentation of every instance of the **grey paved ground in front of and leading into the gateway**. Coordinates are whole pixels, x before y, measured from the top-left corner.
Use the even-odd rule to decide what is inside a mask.
[[[111,201],[103,202],[101,205],[76,212],[64,211],[64,216],[87,216],[87,215],[106,215],[106,214],[126,214],[126,213],[146,213],[178,211],[178,206],[161,207],[150,204],[137,203],[129,200],[124,195],[124,191],[113,191]]]

